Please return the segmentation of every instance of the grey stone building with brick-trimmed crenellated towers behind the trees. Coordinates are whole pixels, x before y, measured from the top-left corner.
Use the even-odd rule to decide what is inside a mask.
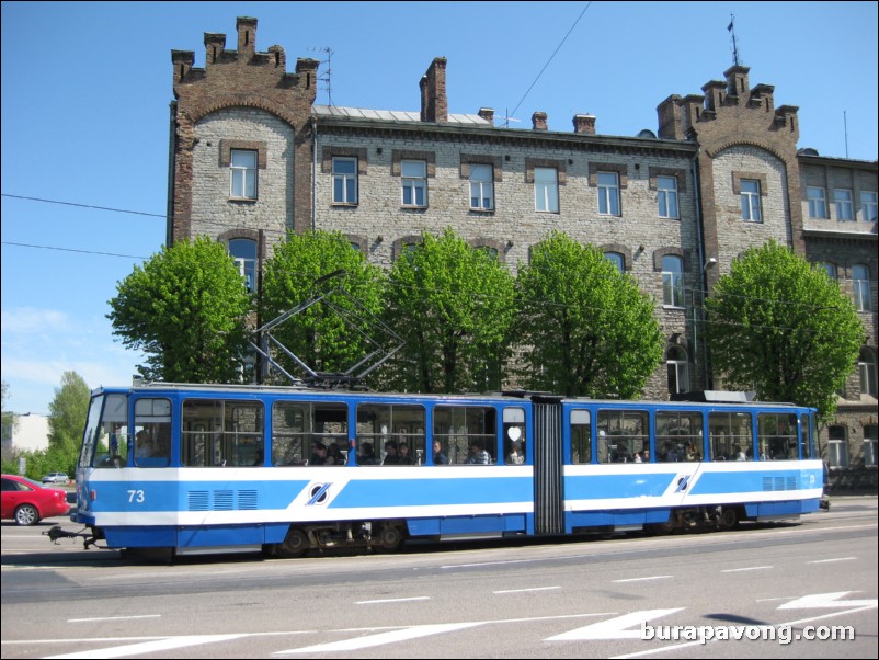
[[[288,230],[342,231],[387,266],[422,231],[450,227],[515,271],[559,229],[657,299],[666,365],[644,396],[666,398],[711,386],[704,292],[775,239],[833,266],[860,300],[867,341],[822,443],[832,464],[876,465],[877,163],[798,149],[797,107],[776,107],[746,67],[669,96],[657,134],[612,137],[590,115],[558,132],[541,112],[529,130],[495,125],[491,109],[452,114],[444,58],[420,81],[419,112],[316,105],[318,61],[288,73],[281,46],[256,50],[255,19],[237,31],[235,50],[205,34],[204,68],[172,52],[169,246],[212,236],[255,287]]]

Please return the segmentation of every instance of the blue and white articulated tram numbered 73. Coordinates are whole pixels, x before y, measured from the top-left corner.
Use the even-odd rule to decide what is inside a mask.
[[[76,534],[87,547],[282,557],[407,538],[727,528],[819,509],[814,424],[813,409],[784,403],[101,388],[71,520],[88,527]]]

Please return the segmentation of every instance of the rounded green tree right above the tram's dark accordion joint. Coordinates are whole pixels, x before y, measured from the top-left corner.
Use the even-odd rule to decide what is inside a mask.
[[[662,360],[653,301],[604,259],[553,231],[532,250],[517,286],[529,387],[566,396],[637,398]]]

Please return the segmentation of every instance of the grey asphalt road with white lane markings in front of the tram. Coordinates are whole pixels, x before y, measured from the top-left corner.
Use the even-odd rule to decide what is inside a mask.
[[[3,524],[3,658],[877,657],[876,497],[727,533],[293,560],[130,561],[50,544],[56,522]]]

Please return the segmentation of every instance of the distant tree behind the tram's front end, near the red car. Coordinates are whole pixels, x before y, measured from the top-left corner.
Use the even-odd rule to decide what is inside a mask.
[[[90,398],[89,386],[79,374],[76,372],[62,374],[61,387],[55,388],[55,398],[49,402],[47,457],[56,466],[53,470],[64,470],[68,475],[76,474]]]

